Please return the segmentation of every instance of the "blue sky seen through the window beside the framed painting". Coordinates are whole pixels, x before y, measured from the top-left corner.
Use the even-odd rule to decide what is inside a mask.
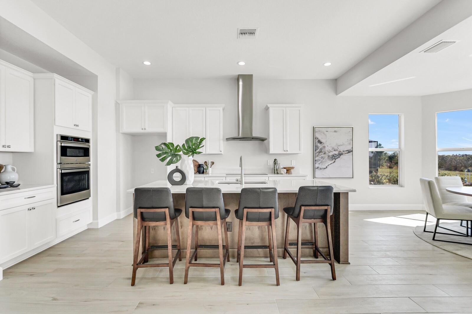
[[[369,140],[378,141],[383,148],[397,149],[398,115],[369,115]]]

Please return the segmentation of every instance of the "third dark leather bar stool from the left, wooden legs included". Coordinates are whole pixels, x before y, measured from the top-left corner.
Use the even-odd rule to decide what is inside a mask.
[[[244,188],[239,198],[239,208],[235,211],[239,219],[237,241],[237,261],[239,262],[239,285],[243,282],[243,268],[275,268],[275,279],[278,277],[277,241],[275,239],[275,220],[278,218],[278,200],[276,188]],[[246,226],[267,226],[269,246],[244,245]],[[271,245],[272,242],[272,245]],[[244,264],[244,249],[269,248],[271,264]],[[273,249],[273,252],[272,252]]]

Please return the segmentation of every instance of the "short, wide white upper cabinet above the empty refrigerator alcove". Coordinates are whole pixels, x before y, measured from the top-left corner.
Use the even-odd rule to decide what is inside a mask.
[[[167,132],[168,100],[120,101],[120,132]]]

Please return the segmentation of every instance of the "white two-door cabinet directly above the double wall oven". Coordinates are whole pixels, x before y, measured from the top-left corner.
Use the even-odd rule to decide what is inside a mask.
[[[93,91],[59,75],[51,75],[54,78],[54,124],[91,132]]]

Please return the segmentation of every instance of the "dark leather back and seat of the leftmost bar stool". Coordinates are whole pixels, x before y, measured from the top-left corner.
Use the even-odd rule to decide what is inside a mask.
[[[138,208],[169,208],[170,219],[175,219],[182,209],[174,208],[174,200],[169,188],[136,188],[133,215],[137,218]],[[166,213],[141,213],[143,221],[165,221]]]

